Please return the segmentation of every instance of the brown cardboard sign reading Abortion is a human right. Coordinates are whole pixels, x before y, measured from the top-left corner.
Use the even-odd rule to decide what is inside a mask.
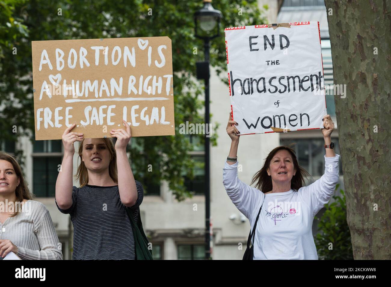
[[[174,135],[169,37],[32,41],[35,139]]]

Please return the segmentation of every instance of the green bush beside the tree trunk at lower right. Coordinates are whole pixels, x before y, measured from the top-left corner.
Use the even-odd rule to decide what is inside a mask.
[[[335,187],[337,191],[339,184]],[[326,260],[353,260],[352,241],[346,221],[346,198],[340,189],[341,196],[333,196],[335,202],[326,204],[326,211],[322,215],[316,235],[315,244],[319,259]],[[317,218],[317,217],[316,217]],[[329,243],[332,250],[329,250]]]

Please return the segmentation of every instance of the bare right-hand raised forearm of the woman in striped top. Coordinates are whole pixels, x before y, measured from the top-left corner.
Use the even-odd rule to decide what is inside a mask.
[[[117,138],[115,151],[117,153],[117,170],[118,170],[118,191],[121,202],[126,207],[133,207],[137,203],[138,193],[136,181],[130,168],[129,159],[126,154],[126,146],[131,139],[131,129],[126,121],[123,121],[126,130],[111,130],[111,136]]]

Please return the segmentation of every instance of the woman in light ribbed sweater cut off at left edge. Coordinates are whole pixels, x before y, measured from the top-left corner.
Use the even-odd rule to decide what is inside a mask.
[[[18,162],[0,152],[0,256],[11,251],[24,260],[63,259],[49,211],[32,200]]]

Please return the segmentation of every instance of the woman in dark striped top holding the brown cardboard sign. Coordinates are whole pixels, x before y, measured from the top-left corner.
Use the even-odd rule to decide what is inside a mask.
[[[71,132],[75,125],[63,134],[65,152],[56,182],[56,204],[71,216],[73,259],[141,259],[138,248],[146,239],[139,208],[143,186],[129,165],[126,146],[131,129],[126,121],[124,126],[126,130],[110,132],[117,138],[115,146],[107,138],[84,139],[83,134]],[[80,142],[76,174],[80,187],[72,187],[75,141]]]

